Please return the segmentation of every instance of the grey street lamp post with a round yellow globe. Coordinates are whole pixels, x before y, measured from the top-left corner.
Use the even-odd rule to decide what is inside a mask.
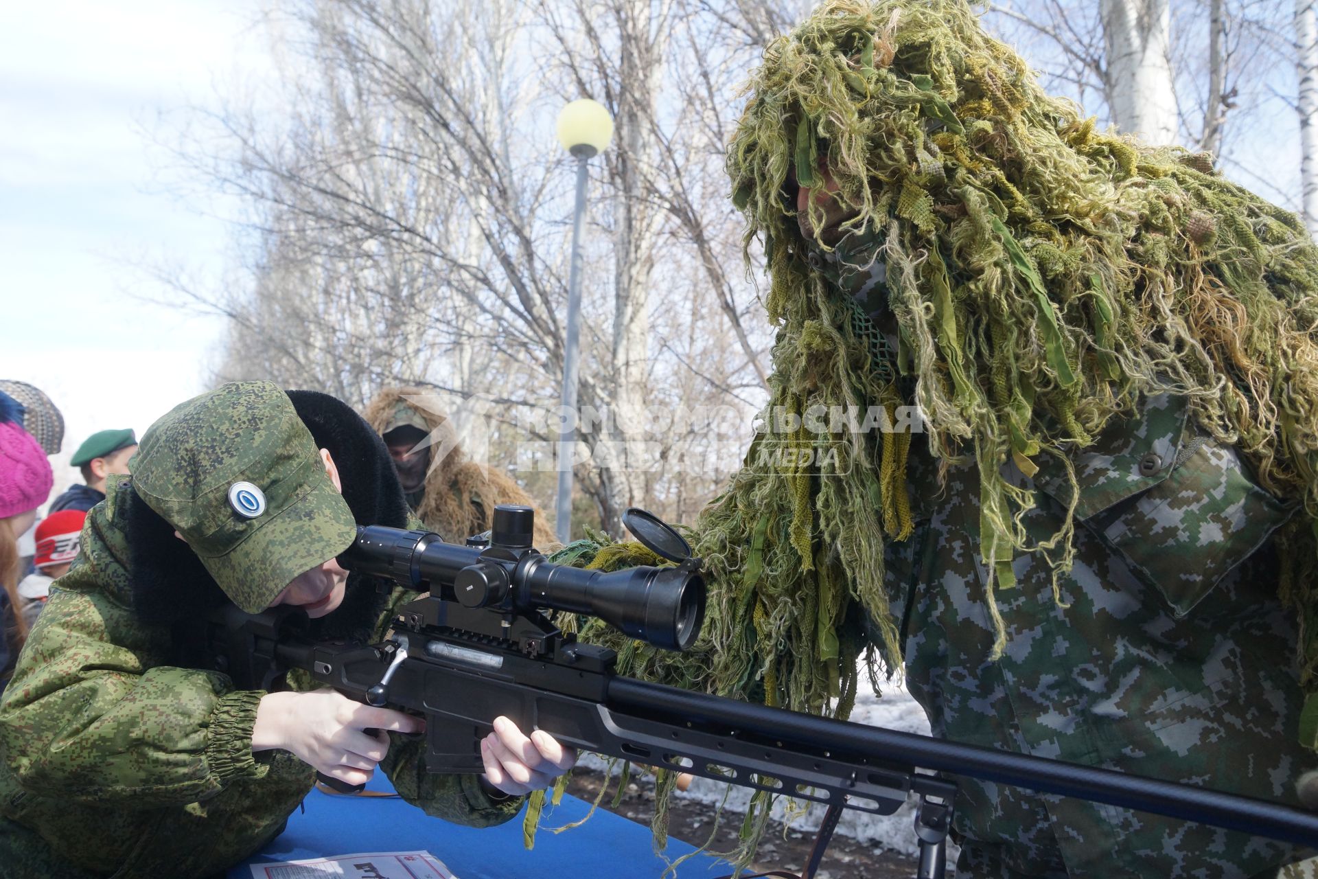
[[[577,361],[581,326],[581,225],[585,216],[587,162],[613,140],[613,119],[602,104],[583,98],[559,111],[559,142],[577,159],[576,208],[572,213],[572,266],[568,271],[568,319],[563,345],[563,427],[559,432],[559,497],[555,531],[572,539],[572,449],[576,445]]]

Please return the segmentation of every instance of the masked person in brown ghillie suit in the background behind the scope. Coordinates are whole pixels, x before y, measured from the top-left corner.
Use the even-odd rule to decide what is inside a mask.
[[[366,406],[366,422],[384,438],[407,503],[426,527],[449,543],[488,531],[494,506],[535,506],[509,476],[468,461],[452,422],[418,401],[434,397],[422,387],[385,387]],[[424,448],[416,448],[430,438]],[[449,449],[434,461],[436,449]],[[558,546],[548,518],[536,511],[535,546]]]

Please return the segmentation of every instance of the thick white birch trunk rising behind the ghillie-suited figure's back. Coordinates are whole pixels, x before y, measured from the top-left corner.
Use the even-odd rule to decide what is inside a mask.
[[[1145,144],[1174,144],[1176,91],[1168,0],[1102,0],[1104,90],[1116,127]]]

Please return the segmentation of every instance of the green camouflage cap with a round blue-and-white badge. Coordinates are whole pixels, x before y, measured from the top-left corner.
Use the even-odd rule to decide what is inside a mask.
[[[150,426],[129,467],[137,494],[246,613],[357,536],[311,432],[270,382],[179,403]]]

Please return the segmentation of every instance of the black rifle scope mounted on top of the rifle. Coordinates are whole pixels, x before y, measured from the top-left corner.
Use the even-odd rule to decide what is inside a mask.
[[[358,527],[339,561],[465,608],[501,614],[550,608],[598,617],[664,650],[695,643],[705,617],[696,565],[604,572],[552,564],[531,548],[534,515],[530,507],[496,507],[488,547],[444,543],[431,531]]]

